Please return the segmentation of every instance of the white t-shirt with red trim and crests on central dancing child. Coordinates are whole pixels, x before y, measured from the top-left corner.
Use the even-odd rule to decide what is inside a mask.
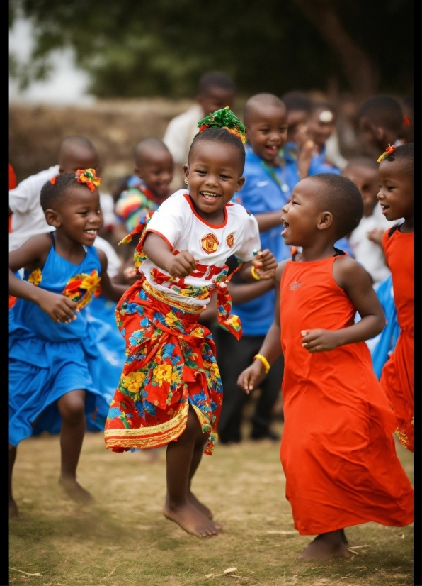
[[[221,274],[227,258],[236,255],[248,262],[253,259],[253,250],[261,247],[258,222],[243,206],[227,204],[224,216],[218,226],[207,223],[196,213],[186,189],[166,199],[154,212],[146,233],[158,233],[173,252],[188,250],[198,264],[192,274],[178,279],[147,258],[139,269],[147,282],[185,304],[206,306],[215,289],[215,277]]]

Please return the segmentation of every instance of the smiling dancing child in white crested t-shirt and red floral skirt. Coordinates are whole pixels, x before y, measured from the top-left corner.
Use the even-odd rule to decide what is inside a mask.
[[[142,278],[116,310],[127,361],[105,444],[117,452],[167,446],[164,515],[206,537],[218,526],[190,482],[204,447],[207,454],[214,448],[222,385],[212,336],[198,316],[217,289],[220,323],[241,336],[239,319],[229,316],[224,263],[236,254],[253,282],[272,278],[276,262],[269,250],[254,255],[256,219],[229,203],[244,183],[243,125],[224,109],[198,126],[184,167],[189,189],[164,201],[147,223],[135,255]]]

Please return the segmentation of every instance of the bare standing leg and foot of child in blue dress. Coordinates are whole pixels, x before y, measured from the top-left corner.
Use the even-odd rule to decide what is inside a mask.
[[[76,481],[76,467],[81,455],[82,442],[85,435],[85,395],[83,390],[71,391],[57,401],[62,416],[60,448],[62,465],[59,483],[69,497],[90,501],[91,494]]]

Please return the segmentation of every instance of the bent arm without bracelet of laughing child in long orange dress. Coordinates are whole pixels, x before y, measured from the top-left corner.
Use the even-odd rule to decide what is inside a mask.
[[[302,331],[302,346],[309,352],[326,352],[341,345],[370,340],[385,326],[384,312],[372,288],[372,279],[362,265],[350,257],[337,258],[333,264],[333,278],[348,294],[362,319],[341,330]]]

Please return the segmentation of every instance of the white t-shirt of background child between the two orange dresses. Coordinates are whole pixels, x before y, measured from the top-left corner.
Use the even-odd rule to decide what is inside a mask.
[[[372,216],[364,216],[360,220],[359,226],[350,234],[349,242],[353,250],[353,255],[367,272],[369,272],[374,284],[387,279],[390,272],[385,262],[382,247],[375,244],[375,242],[371,242],[367,238],[367,233],[375,228],[386,231],[389,227],[394,226],[394,223],[397,222],[389,222],[384,218],[381,206],[377,205],[372,212]]]

